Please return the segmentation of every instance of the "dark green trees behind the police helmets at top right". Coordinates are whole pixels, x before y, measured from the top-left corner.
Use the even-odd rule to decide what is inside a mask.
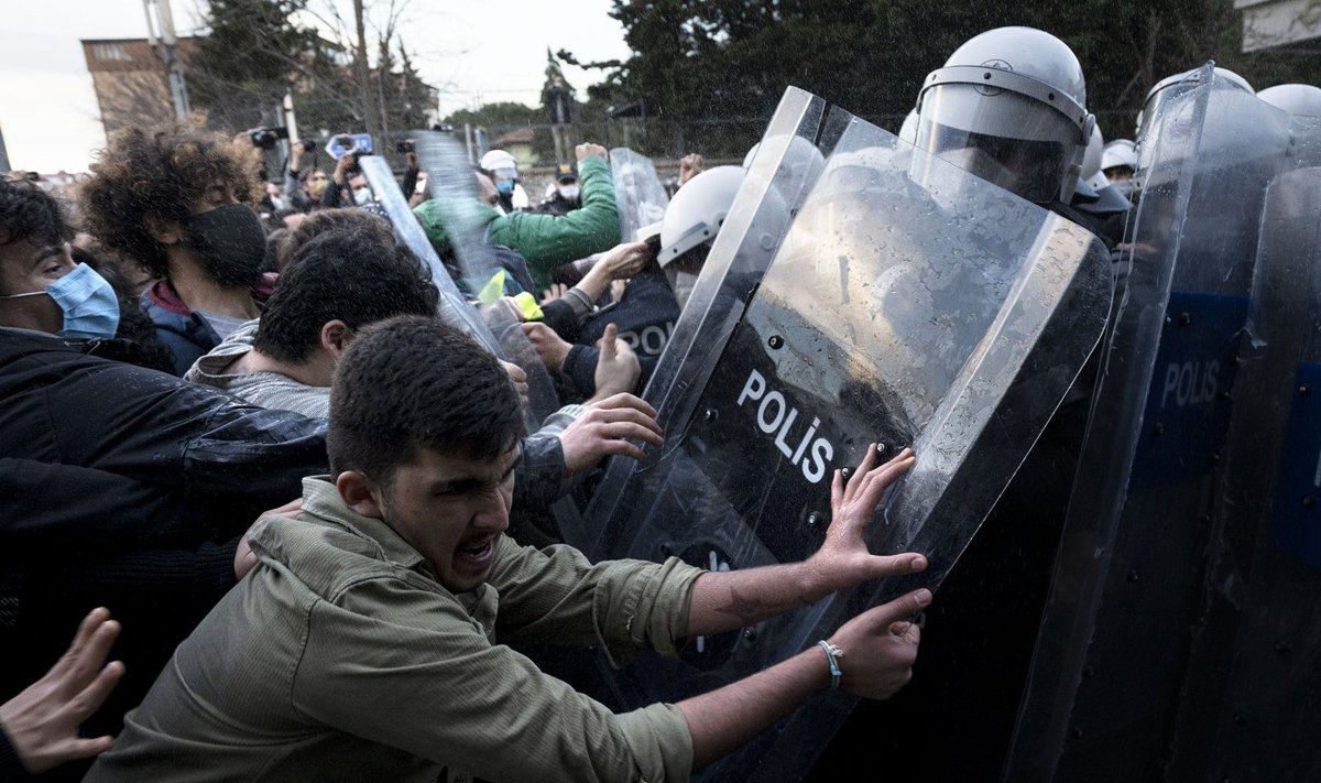
[[[653,126],[708,123],[697,138],[679,131],[678,142],[675,134],[659,140],[670,152],[676,144],[742,144],[745,131],[709,123],[766,119],[787,85],[897,128],[929,71],[963,41],[1004,25],[1045,29],[1074,49],[1107,138],[1132,134],[1151,85],[1207,60],[1256,86],[1321,75],[1316,57],[1240,53],[1232,0],[1024,0],[993,9],[901,0],[614,0],[610,15],[626,30],[629,60],[579,63],[571,52],[559,56],[605,71],[588,89],[592,103],[643,99]]]

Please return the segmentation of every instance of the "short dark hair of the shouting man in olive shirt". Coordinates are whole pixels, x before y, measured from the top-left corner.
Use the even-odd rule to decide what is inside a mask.
[[[363,329],[330,388],[330,470],[361,471],[383,487],[419,448],[494,460],[522,435],[518,393],[505,368],[433,317],[394,317]]]

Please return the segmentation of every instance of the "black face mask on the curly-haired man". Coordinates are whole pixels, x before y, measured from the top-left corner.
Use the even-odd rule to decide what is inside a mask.
[[[256,283],[266,258],[266,230],[250,206],[226,204],[190,216],[184,221],[184,237],[218,286]]]

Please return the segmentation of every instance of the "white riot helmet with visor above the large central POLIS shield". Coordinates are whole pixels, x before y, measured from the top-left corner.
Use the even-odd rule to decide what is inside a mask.
[[[918,94],[917,145],[1018,196],[1067,202],[1096,119],[1082,66],[1036,28],[975,36]]]

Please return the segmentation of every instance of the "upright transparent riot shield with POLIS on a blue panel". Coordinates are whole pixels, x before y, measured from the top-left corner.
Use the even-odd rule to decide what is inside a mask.
[[[1262,194],[1289,132],[1210,63],[1148,119],[1127,287],[1007,780],[1159,779],[1168,761]]]

